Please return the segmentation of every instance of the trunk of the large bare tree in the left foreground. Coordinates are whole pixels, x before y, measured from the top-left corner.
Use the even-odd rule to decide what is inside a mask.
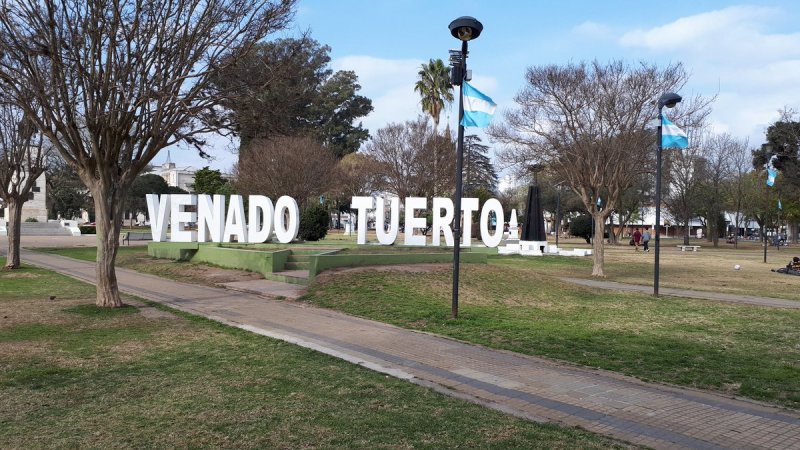
[[[119,308],[122,298],[117,285],[115,264],[122,228],[122,198],[120,191],[94,189],[95,221],[97,223],[97,300],[101,308]],[[116,194],[116,195],[115,195]],[[117,198],[118,197],[118,198]]]

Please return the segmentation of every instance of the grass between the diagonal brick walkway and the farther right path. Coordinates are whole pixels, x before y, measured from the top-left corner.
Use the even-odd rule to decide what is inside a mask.
[[[800,311],[592,290],[535,268],[569,267],[574,259],[530,261],[524,268],[462,266],[457,320],[449,318],[449,267],[321,277],[301,300],[489,347],[800,407]]]

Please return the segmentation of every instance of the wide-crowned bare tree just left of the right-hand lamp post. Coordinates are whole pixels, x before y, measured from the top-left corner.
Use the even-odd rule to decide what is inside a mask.
[[[580,196],[596,225],[592,275],[605,276],[605,220],[634,180],[652,170],[655,101],[680,90],[688,75],[680,64],[660,69],[595,61],[533,67],[525,78],[515,97],[519,108],[507,111],[506,124],[489,134],[506,145],[501,161],[548,165]],[[702,122],[709,103],[700,96],[687,99],[673,121],[684,127]]]

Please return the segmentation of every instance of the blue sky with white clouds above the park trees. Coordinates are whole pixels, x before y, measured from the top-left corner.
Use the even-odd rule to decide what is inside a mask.
[[[413,91],[420,65],[448,59],[460,48],[449,23],[472,16],[484,26],[469,44],[472,85],[498,104],[494,120],[515,106],[529,67],[624,60],[665,66],[681,62],[690,74],[679,94],[717,95],[716,132],[760,145],[778,110],[800,110],[800,2],[724,1],[422,1],[300,0],[291,29],[279,36],[312,38],[331,47],[334,70],[353,70],[372,99],[363,119],[374,132],[422,113]],[[457,103],[442,124],[456,127]],[[441,125],[440,125],[441,126]],[[205,161],[188,148],[172,148],[179,167],[229,171],[236,142],[212,139]],[[492,146],[490,144],[490,146]],[[154,159],[161,164],[166,150]]]

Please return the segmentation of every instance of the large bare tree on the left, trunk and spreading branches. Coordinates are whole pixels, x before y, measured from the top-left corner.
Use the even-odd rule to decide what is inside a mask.
[[[98,306],[122,305],[114,265],[131,183],[162,148],[200,150],[198,134],[222,126],[211,80],[285,28],[294,3],[0,0],[0,82],[95,202]]]

